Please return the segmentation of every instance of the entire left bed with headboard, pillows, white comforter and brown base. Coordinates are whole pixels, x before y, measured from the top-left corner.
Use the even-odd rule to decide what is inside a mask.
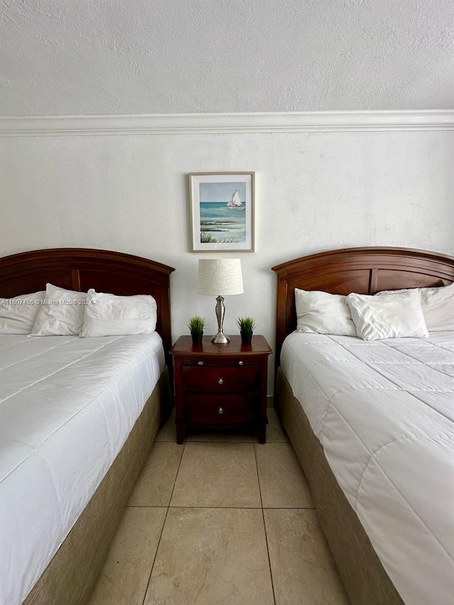
[[[0,298],[18,297],[0,303],[1,605],[89,600],[172,405],[173,270],[90,248],[0,258]]]

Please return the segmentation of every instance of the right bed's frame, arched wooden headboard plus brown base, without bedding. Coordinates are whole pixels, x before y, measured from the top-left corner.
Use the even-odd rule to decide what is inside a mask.
[[[411,248],[346,248],[290,260],[272,270],[277,273],[275,406],[311,486],[345,589],[354,605],[402,605],[279,369],[279,355],[284,338],[297,326],[295,288],[346,295],[438,287],[454,282],[454,257]]]

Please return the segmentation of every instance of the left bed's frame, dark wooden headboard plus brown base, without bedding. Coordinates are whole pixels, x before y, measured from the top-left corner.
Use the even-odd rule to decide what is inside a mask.
[[[109,250],[54,248],[0,258],[0,296],[66,289],[118,295],[151,294],[167,365],[114,464],[24,601],[24,605],[82,605],[92,594],[131,489],[157,429],[172,407],[167,367],[172,345],[170,273],[160,262]]]

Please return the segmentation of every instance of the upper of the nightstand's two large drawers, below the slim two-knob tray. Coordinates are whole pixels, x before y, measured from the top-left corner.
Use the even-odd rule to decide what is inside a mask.
[[[259,367],[184,367],[183,389],[199,393],[242,393],[258,390]]]

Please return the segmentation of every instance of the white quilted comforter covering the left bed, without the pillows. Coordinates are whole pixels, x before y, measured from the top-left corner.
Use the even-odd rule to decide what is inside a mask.
[[[0,603],[22,603],[165,364],[157,333],[0,336]]]

